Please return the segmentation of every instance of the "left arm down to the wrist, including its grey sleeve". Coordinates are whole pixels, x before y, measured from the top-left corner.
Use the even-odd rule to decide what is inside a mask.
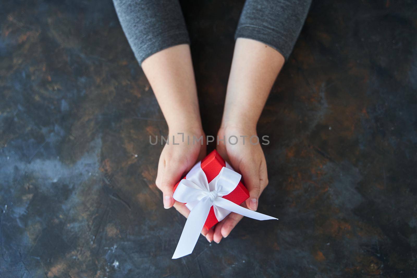
[[[189,38],[178,0],[113,0],[170,130],[201,129]]]

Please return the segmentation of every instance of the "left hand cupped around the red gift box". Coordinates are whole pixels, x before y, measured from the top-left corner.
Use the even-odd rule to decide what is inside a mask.
[[[206,156],[207,145],[205,140],[206,136],[201,128],[186,128],[186,125],[179,126],[178,128],[170,128],[169,130],[169,145],[165,145],[159,158],[158,174],[156,175],[155,183],[162,191],[163,207],[171,208],[174,206],[178,212],[188,217],[190,210],[188,210],[185,204],[176,202],[172,198],[172,190],[174,185],[191,170],[196,162]],[[178,133],[184,133],[184,135]],[[175,144],[178,143],[179,145],[173,145],[173,136],[175,138]],[[187,140],[188,136],[190,143]],[[196,140],[203,136],[203,141],[196,141],[193,144],[193,136]]]

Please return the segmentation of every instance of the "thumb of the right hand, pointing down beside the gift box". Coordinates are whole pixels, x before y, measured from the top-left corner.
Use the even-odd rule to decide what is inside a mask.
[[[246,188],[249,190],[249,199],[246,200],[246,205],[251,210],[256,210],[258,208],[258,198],[261,192],[261,185],[259,182],[260,164],[261,163],[254,163],[253,161],[242,161],[239,167]]]

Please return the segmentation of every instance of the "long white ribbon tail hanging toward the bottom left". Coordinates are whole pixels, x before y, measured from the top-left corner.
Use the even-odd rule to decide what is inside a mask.
[[[193,252],[208,213],[210,212],[211,205],[210,199],[204,197],[191,210],[181,233],[180,240],[178,241],[177,248],[172,256],[173,259],[181,258]]]

